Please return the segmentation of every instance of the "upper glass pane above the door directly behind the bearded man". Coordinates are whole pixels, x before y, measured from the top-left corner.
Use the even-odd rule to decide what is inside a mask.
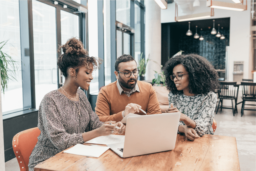
[[[127,26],[130,24],[130,1],[118,0],[116,1],[116,21],[119,21]]]

